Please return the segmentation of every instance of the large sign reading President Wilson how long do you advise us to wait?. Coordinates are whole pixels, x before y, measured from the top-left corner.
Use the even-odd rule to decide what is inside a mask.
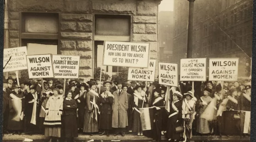
[[[105,42],[103,65],[148,67],[149,43]]]

